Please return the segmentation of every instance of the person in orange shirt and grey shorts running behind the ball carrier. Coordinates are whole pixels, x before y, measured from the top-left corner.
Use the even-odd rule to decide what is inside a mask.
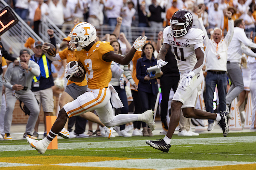
[[[46,54],[46,56],[52,61],[60,60],[60,59],[67,59],[67,63],[70,61],[76,61],[75,50],[71,50],[69,45],[70,36],[64,38],[63,41],[67,42],[67,48],[65,48],[63,51],[58,52],[58,54],[56,54],[55,57],[51,57],[46,53],[45,50],[47,49],[47,46],[45,45],[42,46],[42,51],[44,51],[44,54]],[[87,91],[86,79],[84,79],[84,81],[82,82],[73,82],[71,80],[68,80],[67,87],[65,88],[64,92],[61,94],[61,98],[59,101],[60,108],[63,108],[63,106],[66,105],[68,102],[72,102],[78,96],[80,96],[81,94],[84,94],[85,91]],[[76,118],[75,120],[76,130],[74,130],[76,137],[85,137],[83,136],[83,133],[85,131],[85,125],[87,120],[98,123],[102,127],[105,127],[105,125],[102,122],[100,122],[99,117],[92,112],[84,113],[81,116],[76,116],[76,117],[73,116],[71,117],[71,119],[72,118]],[[61,134],[59,133],[58,135],[64,138],[67,138],[67,134],[69,134],[69,132],[65,130],[66,129],[61,130]]]

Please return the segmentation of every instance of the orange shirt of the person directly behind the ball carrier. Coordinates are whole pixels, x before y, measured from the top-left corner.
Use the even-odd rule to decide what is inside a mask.
[[[69,63],[70,61],[76,61],[75,51],[68,50],[67,48],[60,51],[59,55],[60,55],[61,59],[67,59],[67,63]],[[67,85],[70,85],[72,83],[75,83],[76,85],[79,85],[79,86],[87,85],[86,79],[84,79],[84,81],[82,81],[82,82],[73,82],[73,81],[68,80]]]

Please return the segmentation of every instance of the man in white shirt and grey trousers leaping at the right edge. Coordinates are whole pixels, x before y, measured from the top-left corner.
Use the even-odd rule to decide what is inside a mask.
[[[226,111],[229,111],[231,102],[244,90],[243,76],[239,67],[243,53],[242,43],[250,48],[256,48],[256,44],[246,37],[243,19],[235,20],[234,27],[234,36],[227,50],[227,75],[232,85],[226,96]]]

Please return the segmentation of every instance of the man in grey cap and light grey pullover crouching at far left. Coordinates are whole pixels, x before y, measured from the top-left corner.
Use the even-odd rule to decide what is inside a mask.
[[[35,94],[31,91],[33,77],[38,77],[41,71],[39,65],[30,60],[30,53],[27,49],[20,50],[20,64],[10,64],[4,76],[6,87],[6,113],[4,117],[4,140],[12,140],[10,128],[12,125],[12,113],[17,99],[22,101],[30,111],[23,139],[26,137],[37,139],[32,136],[35,122],[40,112]]]

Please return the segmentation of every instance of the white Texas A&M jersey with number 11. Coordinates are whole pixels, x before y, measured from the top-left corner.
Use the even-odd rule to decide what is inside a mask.
[[[198,28],[190,28],[188,33],[182,37],[173,37],[170,26],[163,30],[163,43],[170,45],[181,74],[193,70],[198,61],[195,49],[204,47],[204,40],[204,32]]]

